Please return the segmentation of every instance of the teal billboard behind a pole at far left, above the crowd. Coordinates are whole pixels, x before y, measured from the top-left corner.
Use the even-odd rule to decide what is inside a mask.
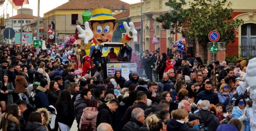
[[[32,32],[22,32],[22,45],[33,44],[33,33]],[[20,32],[15,32],[15,45],[20,44]]]

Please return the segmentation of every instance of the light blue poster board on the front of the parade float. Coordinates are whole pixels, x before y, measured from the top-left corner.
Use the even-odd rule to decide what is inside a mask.
[[[107,63],[107,76],[114,76],[115,72],[119,70],[126,80],[129,80],[129,73],[137,71],[137,63],[125,62],[125,63]]]

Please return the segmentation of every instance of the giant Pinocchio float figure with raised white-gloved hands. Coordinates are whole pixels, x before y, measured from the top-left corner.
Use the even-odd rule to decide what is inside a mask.
[[[126,22],[123,23],[127,34],[122,38],[120,43],[127,43],[132,38],[134,42],[137,42],[137,30],[135,30],[134,24]],[[113,33],[118,26],[118,20],[113,17],[110,9],[98,8],[92,11],[91,18],[85,22],[85,29],[80,25],[77,25],[79,31],[78,39],[74,44],[81,46],[81,49],[89,55],[91,52],[91,46],[101,45],[102,42],[111,42]],[[104,52],[102,52],[104,53]]]

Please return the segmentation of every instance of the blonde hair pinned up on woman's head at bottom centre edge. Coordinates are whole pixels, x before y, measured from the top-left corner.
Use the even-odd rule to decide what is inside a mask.
[[[145,124],[149,131],[165,131],[166,127],[164,125],[164,120],[161,120],[157,117],[156,114],[149,116]]]

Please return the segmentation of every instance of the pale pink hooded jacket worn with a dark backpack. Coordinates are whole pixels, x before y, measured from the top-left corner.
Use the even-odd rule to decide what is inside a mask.
[[[83,114],[81,116],[79,128],[81,129],[81,125],[85,120],[91,120],[92,129],[96,131],[96,119],[97,119],[98,111],[95,107],[86,107],[83,109]]]

